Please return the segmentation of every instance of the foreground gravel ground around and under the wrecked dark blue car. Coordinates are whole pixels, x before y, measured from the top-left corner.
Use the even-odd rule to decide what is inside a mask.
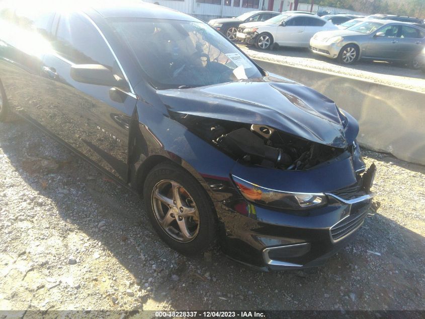
[[[25,122],[0,124],[0,309],[425,309],[425,167],[364,150],[381,208],[318,269],[165,246],[143,202]]]

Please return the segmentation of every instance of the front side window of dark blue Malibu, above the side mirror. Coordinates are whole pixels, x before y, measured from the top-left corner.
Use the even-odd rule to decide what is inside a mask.
[[[73,13],[59,19],[55,50],[75,64],[100,64],[112,70],[114,56],[95,26]]]

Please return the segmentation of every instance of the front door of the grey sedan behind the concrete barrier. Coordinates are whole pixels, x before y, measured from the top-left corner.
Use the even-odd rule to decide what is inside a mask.
[[[396,60],[401,57],[399,51],[400,42],[400,25],[384,26],[378,32],[384,33],[384,36],[371,36],[363,57],[376,59]]]

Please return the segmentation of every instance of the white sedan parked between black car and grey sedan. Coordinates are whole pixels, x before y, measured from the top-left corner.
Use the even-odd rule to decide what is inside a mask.
[[[333,23],[320,17],[284,13],[264,22],[239,25],[236,38],[263,50],[271,48],[273,43],[309,47],[310,39],[316,32],[337,29]]]

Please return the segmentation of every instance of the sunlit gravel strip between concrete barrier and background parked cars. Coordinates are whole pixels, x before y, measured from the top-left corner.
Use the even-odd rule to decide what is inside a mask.
[[[425,92],[425,73],[403,65],[387,62],[359,61],[353,66],[342,66],[336,60],[326,58],[308,49],[279,47],[273,51],[257,50],[252,46],[238,44],[252,58],[261,58],[290,66],[338,73],[358,77],[375,83],[387,84]]]

